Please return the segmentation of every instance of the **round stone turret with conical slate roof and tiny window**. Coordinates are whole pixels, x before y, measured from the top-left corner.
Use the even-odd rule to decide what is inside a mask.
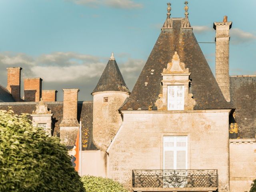
[[[92,95],[94,143],[105,151],[122,124],[118,109],[130,95],[113,53]]]

